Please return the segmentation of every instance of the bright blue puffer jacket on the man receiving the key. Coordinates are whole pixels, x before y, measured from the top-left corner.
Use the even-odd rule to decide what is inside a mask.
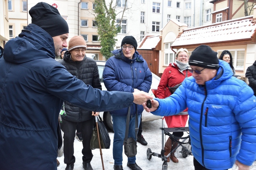
[[[188,107],[192,152],[206,168],[229,169],[236,159],[250,166],[256,158],[256,97],[226,62],[219,65],[205,86],[191,76],[170,97],[156,99],[159,107],[152,113],[169,116]]]

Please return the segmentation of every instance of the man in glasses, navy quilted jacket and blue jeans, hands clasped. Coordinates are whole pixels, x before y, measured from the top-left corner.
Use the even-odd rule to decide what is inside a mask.
[[[133,36],[125,36],[122,40],[121,47],[122,49],[120,50],[112,51],[114,56],[106,61],[103,78],[107,90],[148,92],[152,83],[152,73],[146,61],[136,51],[136,39]],[[137,134],[135,134],[136,112],[138,113],[138,122],[140,123],[142,111],[142,105],[133,104],[131,106],[128,137],[133,137],[134,140],[136,140],[137,136]],[[113,158],[115,160],[115,170],[123,169],[122,155],[127,113],[128,107],[110,112],[113,118]],[[133,170],[140,170],[140,167],[136,164],[136,156],[128,157],[127,166]]]

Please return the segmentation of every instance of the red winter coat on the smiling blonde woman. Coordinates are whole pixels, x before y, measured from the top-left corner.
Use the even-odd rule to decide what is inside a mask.
[[[184,70],[183,72],[177,67],[175,63],[169,64],[169,66],[163,71],[160,83],[157,88],[157,97],[159,99],[167,98],[171,95],[171,92],[168,87],[176,86],[183,82],[183,80],[187,77],[190,77],[192,73]],[[187,112],[185,109],[183,112]],[[168,128],[179,128],[185,127],[187,122],[187,115],[173,115],[173,116],[165,116],[165,121],[167,123]]]

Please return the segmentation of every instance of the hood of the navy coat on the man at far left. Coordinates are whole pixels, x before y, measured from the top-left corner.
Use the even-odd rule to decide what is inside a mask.
[[[41,51],[40,54],[38,50]],[[6,43],[3,57],[4,60],[16,64],[39,58],[55,58],[53,38],[37,25],[29,24],[18,37]]]

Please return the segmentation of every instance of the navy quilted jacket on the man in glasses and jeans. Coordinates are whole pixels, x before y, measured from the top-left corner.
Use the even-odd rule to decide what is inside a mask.
[[[152,73],[146,61],[137,51],[133,59],[126,58],[120,50],[112,51],[114,56],[110,57],[103,71],[104,85],[108,91],[134,92],[134,88],[148,92],[152,84]],[[138,114],[143,111],[142,105],[137,105]],[[128,108],[111,111],[110,114],[127,115]],[[131,107],[131,114],[136,114],[136,104]]]

